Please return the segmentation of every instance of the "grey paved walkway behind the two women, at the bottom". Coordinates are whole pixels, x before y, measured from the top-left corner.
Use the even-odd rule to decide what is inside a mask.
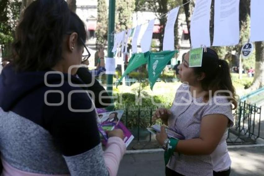
[[[264,176],[264,147],[229,148],[231,176]],[[163,152],[126,154],[118,176],[164,176]]]

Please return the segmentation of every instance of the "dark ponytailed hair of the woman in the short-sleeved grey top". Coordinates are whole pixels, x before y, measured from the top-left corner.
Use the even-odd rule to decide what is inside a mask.
[[[203,52],[202,67],[193,67],[194,73],[200,75],[205,73],[205,78],[201,81],[202,88],[208,91],[204,100],[209,100],[209,90],[212,90],[212,95],[217,90],[229,90],[232,93],[232,98],[229,101],[234,105],[233,109],[237,108],[235,89],[232,84],[231,75],[228,63],[225,60],[219,59],[217,53],[207,48],[207,52]],[[224,96],[230,96],[229,93],[221,93]]]

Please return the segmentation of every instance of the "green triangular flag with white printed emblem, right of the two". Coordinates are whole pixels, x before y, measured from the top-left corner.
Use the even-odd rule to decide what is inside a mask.
[[[162,70],[174,56],[175,52],[178,53],[178,51],[161,51],[150,53],[150,57],[148,59],[148,80],[151,90]]]

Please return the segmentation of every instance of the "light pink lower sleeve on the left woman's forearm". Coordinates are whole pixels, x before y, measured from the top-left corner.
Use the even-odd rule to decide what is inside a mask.
[[[125,154],[125,143],[120,137],[110,137],[103,154],[109,176],[116,176],[120,160]]]

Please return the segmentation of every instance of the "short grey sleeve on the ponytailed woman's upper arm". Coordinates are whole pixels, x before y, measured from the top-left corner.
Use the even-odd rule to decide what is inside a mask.
[[[224,96],[216,96],[212,99],[212,104],[207,104],[203,110],[202,118],[209,114],[222,114],[230,120],[229,127],[234,125],[232,105]]]

